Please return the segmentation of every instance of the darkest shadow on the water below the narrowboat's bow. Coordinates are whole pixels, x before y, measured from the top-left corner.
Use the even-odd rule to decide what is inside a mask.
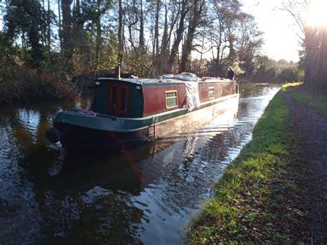
[[[50,177],[51,188],[55,190],[88,190],[95,185],[112,190],[124,190],[137,195],[164,170],[158,167],[156,173],[146,172],[160,152],[175,141],[161,141],[162,144],[146,144],[120,153],[85,153],[66,155],[58,174]],[[53,173],[52,173],[53,175]]]

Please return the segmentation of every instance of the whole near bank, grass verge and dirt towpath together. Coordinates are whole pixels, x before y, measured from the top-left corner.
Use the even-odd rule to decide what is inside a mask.
[[[226,168],[215,197],[192,224],[191,244],[326,243],[327,124],[319,116],[326,103],[321,98],[312,103],[313,96],[301,89],[277,93],[252,141]]]

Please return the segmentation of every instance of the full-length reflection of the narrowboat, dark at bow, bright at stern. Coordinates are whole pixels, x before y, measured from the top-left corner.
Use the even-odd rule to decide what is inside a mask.
[[[50,178],[52,188],[81,191],[98,185],[137,195],[176,164],[189,161],[199,147],[231,126],[238,98],[230,99],[226,105],[207,126],[198,122],[176,130],[174,135],[123,152],[65,155],[60,172]]]

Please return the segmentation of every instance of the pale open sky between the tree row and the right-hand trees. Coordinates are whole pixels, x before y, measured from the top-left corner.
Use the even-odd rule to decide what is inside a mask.
[[[287,12],[278,10],[282,1],[243,0],[244,12],[255,16],[259,30],[264,32],[264,55],[296,62],[299,61],[299,30]]]

